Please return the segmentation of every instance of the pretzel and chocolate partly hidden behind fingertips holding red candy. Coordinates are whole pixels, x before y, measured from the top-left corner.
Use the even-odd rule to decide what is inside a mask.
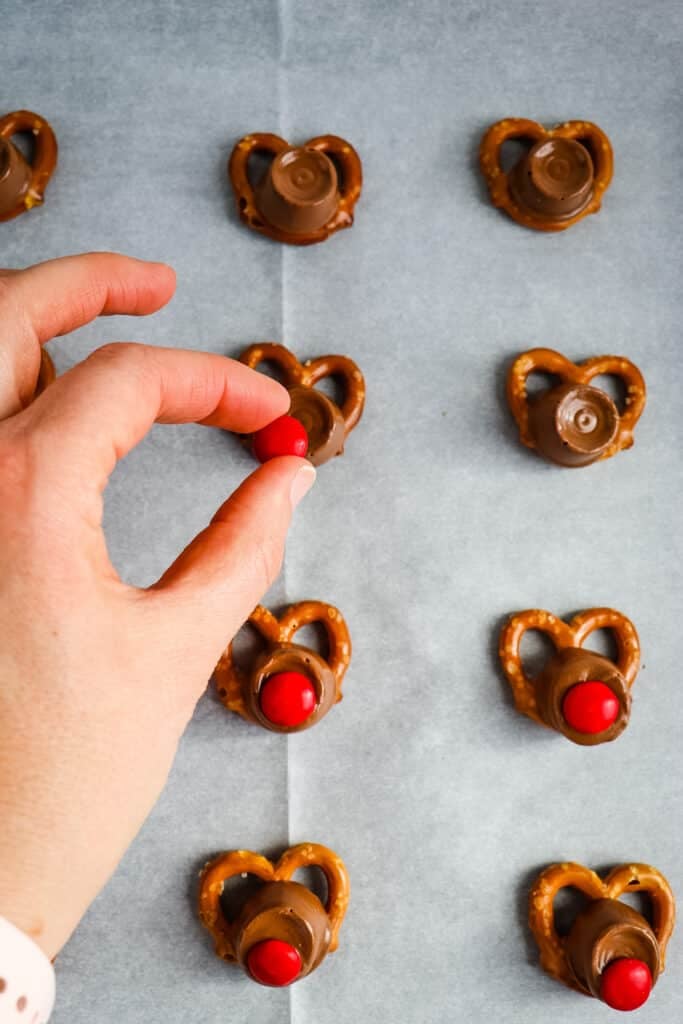
[[[252,370],[261,362],[270,362],[279,370],[290,392],[290,415],[299,420],[308,434],[307,459],[314,466],[342,455],[366,400],[366,382],[352,359],[346,355],[322,355],[302,364],[284,345],[262,342],[246,348],[240,360]],[[341,381],[344,390],[341,407],[314,387],[325,377]]]

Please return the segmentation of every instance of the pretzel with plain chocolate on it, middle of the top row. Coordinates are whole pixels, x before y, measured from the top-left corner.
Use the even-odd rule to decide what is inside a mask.
[[[248,164],[257,153],[271,156],[273,164],[255,188],[249,180]],[[311,161],[306,157],[311,153],[325,159],[322,163]],[[288,160],[294,162],[289,169]],[[306,166],[301,167],[297,161]],[[342,172],[341,182],[337,166]],[[274,186],[273,168],[278,178]],[[299,246],[324,242],[335,231],[350,227],[362,186],[360,158],[350,142],[337,135],[319,135],[299,148],[267,132],[245,135],[230,154],[227,173],[244,223],[278,242]],[[280,222],[268,220],[264,208],[271,210],[270,216],[272,211],[280,214]]]

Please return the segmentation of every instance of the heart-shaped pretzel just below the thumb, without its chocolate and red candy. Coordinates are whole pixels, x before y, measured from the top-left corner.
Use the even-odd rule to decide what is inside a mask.
[[[342,699],[342,682],[351,659],[351,637],[344,616],[338,608],[324,601],[299,601],[292,604],[278,618],[259,604],[252,611],[248,622],[271,645],[292,643],[295,633],[304,626],[321,623],[325,627],[329,652],[326,662],[335,677],[337,702]],[[246,674],[232,658],[230,642],[221,654],[214,671],[218,697],[230,711],[247,720],[251,716],[244,701]]]

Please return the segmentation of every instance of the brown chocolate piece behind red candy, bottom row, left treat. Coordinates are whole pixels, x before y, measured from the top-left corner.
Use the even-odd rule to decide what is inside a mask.
[[[236,959],[248,974],[250,951],[257,943],[272,939],[299,954],[297,981],[325,958],[330,948],[330,919],[310,889],[298,882],[268,882],[245,903],[234,924],[233,943]]]

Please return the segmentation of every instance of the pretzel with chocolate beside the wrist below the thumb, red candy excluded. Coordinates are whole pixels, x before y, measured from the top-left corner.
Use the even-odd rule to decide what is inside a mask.
[[[248,622],[260,634],[265,649],[250,671],[245,671],[236,664],[232,643],[228,644],[214,671],[221,702],[247,721],[273,731],[299,731],[316,724],[342,699],[342,682],[351,659],[351,637],[341,611],[323,601],[300,601],[290,605],[278,618],[259,604]],[[325,658],[308,647],[293,643],[299,630],[314,623],[325,627],[329,648]],[[262,707],[262,691],[268,680],[283,672],[308,677],[315,690],[314,709],[293,725],[268,718]]]

